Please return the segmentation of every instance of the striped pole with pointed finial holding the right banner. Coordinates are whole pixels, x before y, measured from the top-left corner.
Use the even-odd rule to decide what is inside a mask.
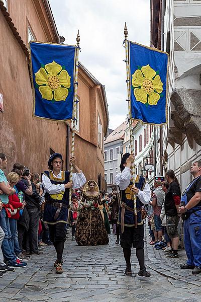
[[[132,117],[131,117],[131,96],[130,96],[130,70],[129,70],[129,42],[128,42],[128,29],[125,23],[124,27],[124,35],[125,35],[125,48],[126,48],[126,72],[127,72],[127,94],[128,94],[128,108],[129,108],[129,132],[130,132],[130,146],[131,146],[131,153],[134,153],[134,143],[133,143],[133,133],[132,133]],[[131,173],[133,184],[135,179],[135,166],[134,163],[131,166]],[[135,216],[135,228],[138,227],[138,219],[137,219],[137,206],[136,206],[136,196],[133,194],[133,204],[134,204],[134,216]]]

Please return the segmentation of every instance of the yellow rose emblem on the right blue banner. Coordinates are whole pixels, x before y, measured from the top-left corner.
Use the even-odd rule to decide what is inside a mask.
[[[132,74],[132,85],[136,101],[143,104],[157,105],[160,93],[163,91],[163,83],[160,76],[149,64],[142,66]]]

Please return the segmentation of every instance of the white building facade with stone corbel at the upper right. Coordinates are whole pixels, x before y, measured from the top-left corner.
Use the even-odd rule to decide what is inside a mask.
[[[156,127],[156,174],[174,170],[183,190],[191,164],[201,159],[201,1],[162,2],[158,16],[159,49],[170,54],[169,123]],[[165,4],[165,5],[164,5]],[[151,2],[153,11],[154,3]],[[156,45],[151,15],[151,46]],[[160,41],[159,41],[160,40]],[[160,43],[159,43],[160,42]],[[154,44],[155,43],[155,44]]]

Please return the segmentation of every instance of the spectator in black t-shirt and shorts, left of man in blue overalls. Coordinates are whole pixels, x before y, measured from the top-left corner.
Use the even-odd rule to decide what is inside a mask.
[[[177,178],[174,175],[173,170],[168,170],[166,172],[166,179],[169,183],[169,188],[165,195],[165,214],[167,220],[167,234],[172,241],[172,251],[169,252],[167,257],[177,258],[178,257],[178,243],[179,243],[179,234],[178,234],[178,207],[180,205],[181,199],[181,190]]]

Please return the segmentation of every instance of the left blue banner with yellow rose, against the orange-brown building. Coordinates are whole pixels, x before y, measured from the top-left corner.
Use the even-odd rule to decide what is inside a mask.
[[[33,115],[72,118],[76,46],[30,42],[34,85]]]

